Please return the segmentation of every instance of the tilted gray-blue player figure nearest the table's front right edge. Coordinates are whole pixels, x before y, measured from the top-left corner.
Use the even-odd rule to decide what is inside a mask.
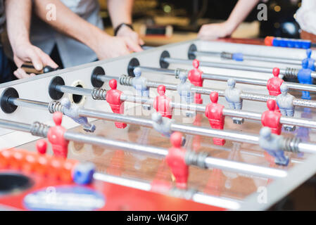
[[[283,136],[272,134],[269,127],[260,129],[259,146],[275,158],[275,164],[287,166],[289,164],[289,158],[284,155],[284,151],[282,150],[283,142]]]

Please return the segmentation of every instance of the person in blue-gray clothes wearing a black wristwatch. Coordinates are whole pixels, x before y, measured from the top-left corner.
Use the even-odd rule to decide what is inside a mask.
[[[32,20],[32,44],[48,54],[57,49],[64,68],[141,51],[144,44],[132,30],[132,0],[108,0],[115,37],[103,31],[98,0],[33,3],[37,17]]]

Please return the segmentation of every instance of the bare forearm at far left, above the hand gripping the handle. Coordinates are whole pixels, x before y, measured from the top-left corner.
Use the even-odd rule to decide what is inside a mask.
[[[6,25],[13,52],[19,44],[30,43],[32,0],[6,0]]]

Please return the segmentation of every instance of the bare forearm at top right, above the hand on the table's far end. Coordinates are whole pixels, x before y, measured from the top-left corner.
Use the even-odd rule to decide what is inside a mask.
[[[239,0],[229,15],[227,23],[235,30],[243,22],[260,0]]]

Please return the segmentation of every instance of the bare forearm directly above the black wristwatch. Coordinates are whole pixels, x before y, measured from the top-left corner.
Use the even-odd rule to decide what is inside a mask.
[[[108,0],[108,12],[113,27],[121,23],[132,23],[133,0]]]

